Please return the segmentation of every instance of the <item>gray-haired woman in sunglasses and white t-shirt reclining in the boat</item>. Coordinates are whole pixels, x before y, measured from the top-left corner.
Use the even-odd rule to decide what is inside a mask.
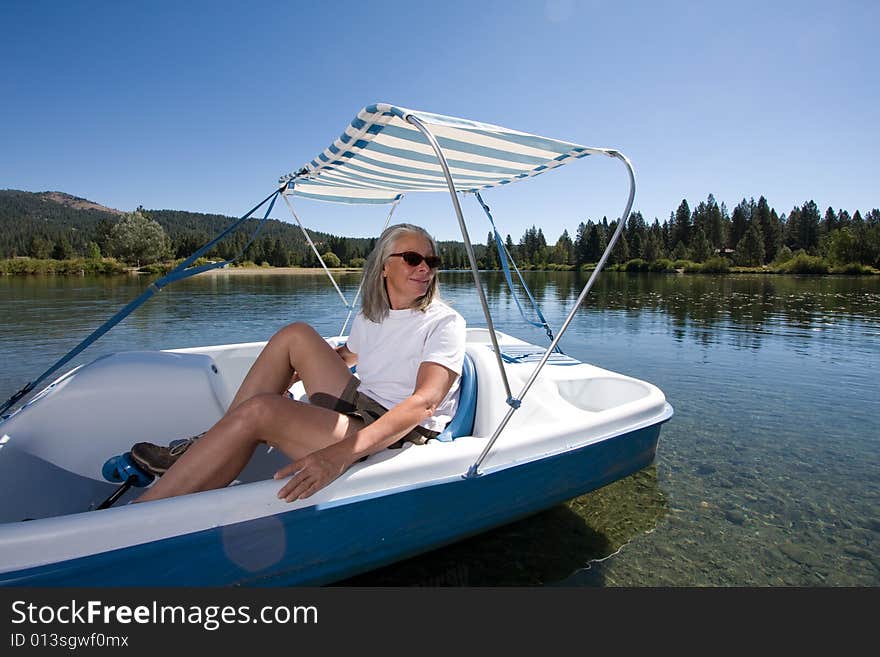
[[[348,343],[334,350],[304,323],[278,331],[224,416],[137,501],[226,486],[268,443],[292,460],[275,473],[293,475],[278,491],[292,502],[374,452],[438,435],[458,403],[465,323],[437,298],[436,253],[423,228],[386,229],[364,266]],[[300,379],[310,403],[284,395]]]

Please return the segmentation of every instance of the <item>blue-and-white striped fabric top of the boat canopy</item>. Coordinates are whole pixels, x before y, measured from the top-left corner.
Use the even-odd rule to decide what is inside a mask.
[[[285,193],[337,203],[391,203],[407,192],[447,191],[434,149],[407,122],[409,115],[437,138],[458,192],[506,185],[608,152],[487,123],[370,105],[330,148],[297,173],[282,177]]]

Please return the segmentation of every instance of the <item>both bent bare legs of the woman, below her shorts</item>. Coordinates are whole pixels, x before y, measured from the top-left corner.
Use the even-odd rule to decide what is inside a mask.
[[[351,378],[339,355],[311,326],[284,327],[263,348],[224,416],[137,501],[226,486],[261,442],[297,459],[361,428],[347,415],[282,397],[294,370],[310,395],[338,397]]]

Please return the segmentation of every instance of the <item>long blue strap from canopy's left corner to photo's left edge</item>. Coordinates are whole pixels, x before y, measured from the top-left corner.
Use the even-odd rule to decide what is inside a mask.
[[[136,299],[129,302],[119,312],[117,312],[115,315],[113,315],[113,317],[111,317],[106,322],[101,324],[101,326],[99,326],[97,329],[95,329],[87,338],[85,338],[76,347],[71,349],[64,356],[62,356],[58,361],[55,362],[54,365],[52,365],[49,369],[47,369],[45,372],[43,372],[40,376],[38,376],[33,381],[30,381],[27,384],[25,384],[21,390],[19,390],[14,395],[12,395],[12,397],[7,399],[3,403],[3,405],[0,406],[0,414],[4,413],[6,410],[8,410],[14,404],[18,403],[22,398],[24,398],[25,395],[27,395],[29,392],[31,392],[40,381],[45,379],[47,376],[49,376],[53,372],[57,371],[58,368],[62,367],[66,363],[70,362],[71,359],[75,358],[80,352],[82,352],[84,349],[86,349],[88,346],[90,346],[93,342],[98,340],[98,338],[100,338],[102,335],[107,333],[107,331],[109,331],[111,328],[116,326],[123,319],[128,317],[132,312],[134,312],[140,306],[142,306],[148,299],[150,299],[150,297],[152,297],[157,292],[161,292],[162,288],[165,287],[166,285],[174,283],[175,281],[182,280],[184,278],[189,278],[190,276],[195,276],[196,274],[200,274],[204,271],[209,271],[211,269],[217,269],[218,267],[224,267],[224,266],[230,264],[231,262],[235,261],[239,256],[241,256],[242,253],[244,253],[244,250],[247,249],[247,247],[251,244],[251,242],[253,242],[254,238],[257,236],[257,233],[260,231],[260,228],[262,227],[263,223],[265,223],[266,219],[268,218],[269,213],[272,212],[272,208],[275,205],[275,199],[278,197],[278,194],[280,192],[281,192],[280,189],[272,192],[269,196],[267,196],[265,199],[263,199],[257,205],[255,205],[250,210],[250,212],[248,212],[243,217],[238,219],[238,221],[236,221],[229,228],[227,228],[222,233],[220,233],[213,240],[211,240],[210,242],[205,244],[203,247],[198,249],[195,253],[193,253],[191,256],[189,256],[186,260],[184,260],[179,265],[177,265],[174,269],[172,269],[170,272],[165,274],[165,276],[150,283],[147,286],[147,289],[144,290]],[[207,253],[220,240],[222,240],[224,237],[226,237],[231,232],[236,230],[239,226],[241,226],[245,221],[247,221],[247,219],[250,218],[250,216],[254,212],[259,210],[260,207],[262,207],[267,201],[271,201],[271,202],[269,203],[269,207],[266,210],[266,214],[263,216],[262,220],[257,225],[257,228],[254,231],[253,235],[251,236],[250,241],[244,246],[244,248],[235,257],[233,257],[230,260],[224,260],[221,262],[211,262],[206,265],[200,265],[198,267],[192,267],[190,269],[187,269],[187,267],[189,267],[191,264],[193,264],[199,257],[201,257],[202,255]]]

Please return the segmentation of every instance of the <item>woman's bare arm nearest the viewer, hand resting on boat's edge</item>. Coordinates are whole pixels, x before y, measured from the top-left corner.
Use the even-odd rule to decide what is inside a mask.
[[[288,502],[309,497],[359,459],[388,447],[408,434],[434,414],[457,376],[438,363],[422,363],[415,390],[397,406],[351,438],[313,452],[279,470],[275,474],[276,479],[294,472],[296,474],[278,491],[278,497]]]

